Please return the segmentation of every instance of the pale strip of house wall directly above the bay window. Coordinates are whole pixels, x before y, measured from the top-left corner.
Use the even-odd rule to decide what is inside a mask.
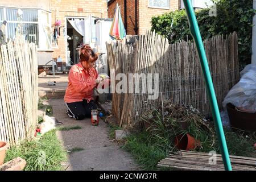
[[[0,6],[50,10],[50,1],[45,0],[0,0]]]

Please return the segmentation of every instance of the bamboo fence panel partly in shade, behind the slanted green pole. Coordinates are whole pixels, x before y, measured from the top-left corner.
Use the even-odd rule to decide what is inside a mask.
[[[139,36],[134,44],[120,42],[106,43],[110,77],[118,73],[158,73],[158,99],[148,100],[148,93],[113,93],[112,113],[118,119],[119,126],[133,126],[144,110],[152,109],[171,101],[174,104],[189,105],[199,110],[205,117],[210,117],[210,106],[201,72],[200,61],[195,44],[181,41],[169,44],[168,40],[148,31]],[[204,41],[208,64],[218,106],[230,88],[240,78],[238,64],[237,34],[217,35]],[[147,88],[147,80],[130,79]],[[119,81],[111,83],[112,89]],[[134,89],[134,84],[127,84],[127,90]]]

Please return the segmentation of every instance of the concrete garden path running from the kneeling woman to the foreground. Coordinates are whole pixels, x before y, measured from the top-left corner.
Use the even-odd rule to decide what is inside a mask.
[[[90,124],[90,118],[75,121],[65,113],[66,107],[63,99],[49,101],[52,105],[53,116],[63,122],[63,127],[80,126],[82,129],[57,131],[57,137],[67,150],[79,147],[84,150],[69,154],[71,165],[67,170],[137,170],[130,154],[121,150],[117,144],[109,139],[108,124],[100,120],[98,126]]]

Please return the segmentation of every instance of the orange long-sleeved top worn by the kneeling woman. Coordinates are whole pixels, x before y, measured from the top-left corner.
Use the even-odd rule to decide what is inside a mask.
[[[83,99],[93,100],[93,88],[96,87],[95,80],[98,73],[95,68],[85,71],[82,64],[75,64],[68,74],[68,88],[66,89],[64,101],[67,103],[79,102]]]

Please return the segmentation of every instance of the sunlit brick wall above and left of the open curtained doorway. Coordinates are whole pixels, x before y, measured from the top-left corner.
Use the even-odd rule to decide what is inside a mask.
[[[82,10],[81,10],[82,9]],[[57,13],[59,10],[59,14]],[[82,16],[86,17],[90,14],[99,18],[108,18],[106,0],[51,0],[52,11],[52,27],[57,19],[61,20],[61,26],[65,26],[65,16]],[[63,27],[60,28],[60,38],[58,41],[58,49],[53,52],[53,57],[61,56],[66,61],[66,40],[63,36]]]

